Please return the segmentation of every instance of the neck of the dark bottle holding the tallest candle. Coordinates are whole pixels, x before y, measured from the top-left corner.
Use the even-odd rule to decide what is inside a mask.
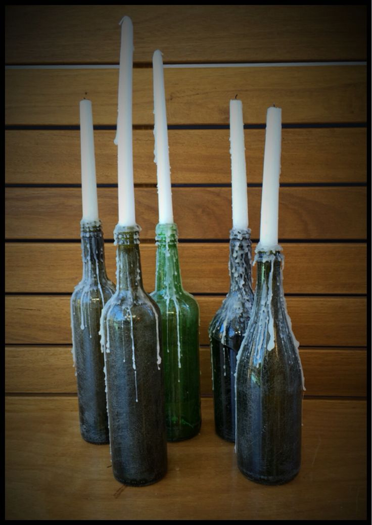
[[[143,288],[139,251],[139,226],[116,225],[113,232],[116,253],[116,286],[118,291]]]

